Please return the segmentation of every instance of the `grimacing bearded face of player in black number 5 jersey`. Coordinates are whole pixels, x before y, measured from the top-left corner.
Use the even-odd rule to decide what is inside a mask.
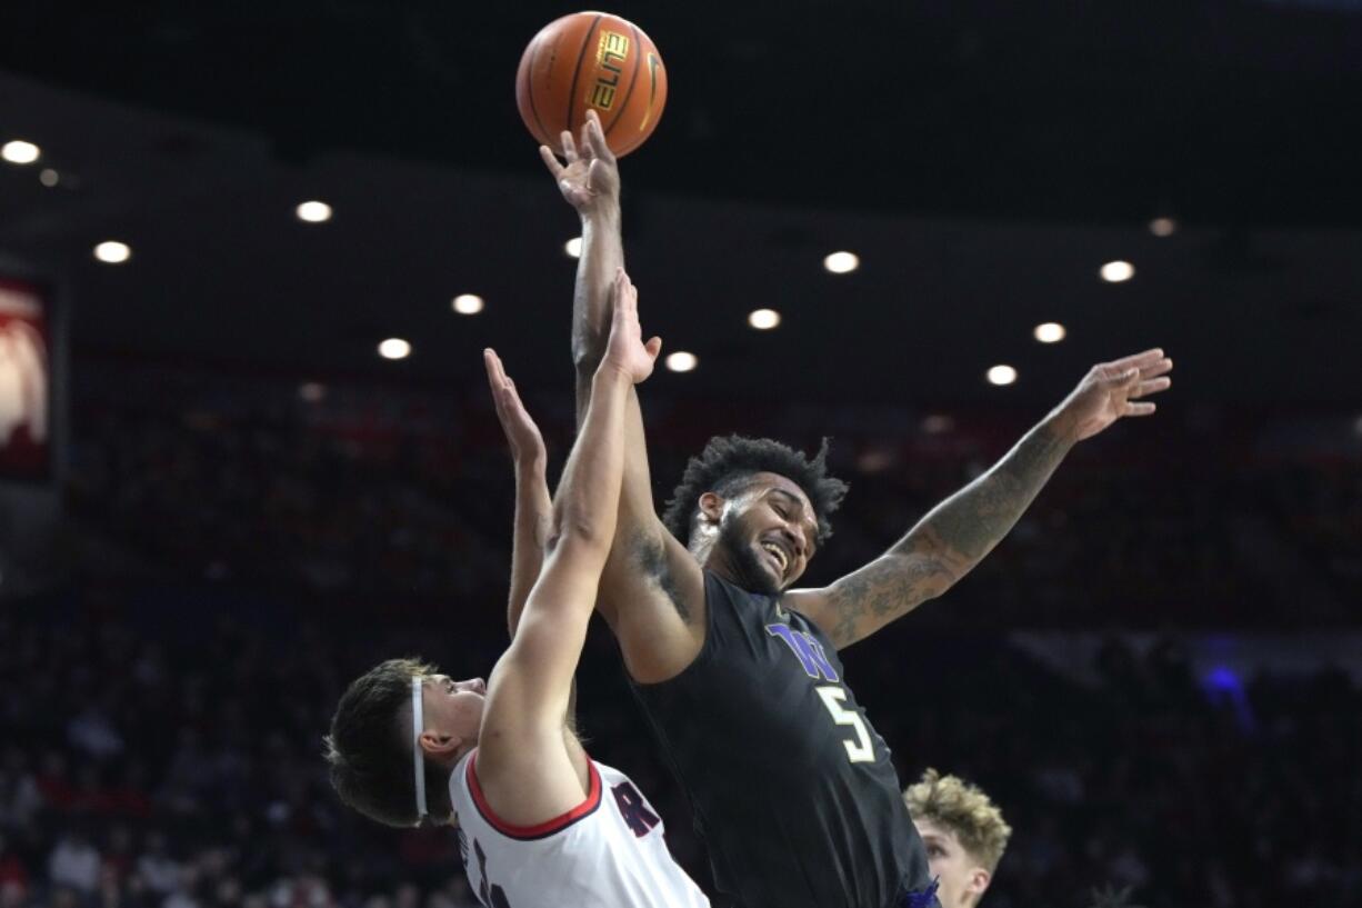
[[[730,499],[719,525],[719,545],[741,585],[775,596],[794,584],[817,549],[813,504],[791,480],[757,473]]]

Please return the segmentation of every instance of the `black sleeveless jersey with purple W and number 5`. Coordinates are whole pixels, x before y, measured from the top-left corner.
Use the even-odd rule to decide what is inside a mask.
[[[700,654],[635,691],[719,892],[738,908],[940,908],[889,748],[832,642],[778,596],[708,571],[704,596]]]

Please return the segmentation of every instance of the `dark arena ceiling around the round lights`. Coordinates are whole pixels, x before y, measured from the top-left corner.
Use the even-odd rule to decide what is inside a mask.
[[[1099,8],[1100,7],[1100,8]],[[1110,8],[1107,8],[1110,7]],[[78,353],[287,375],[565,369],[573,217],[518,120],[556,4],[11,3],[0,251]],[[1362,18],[1308,4],[613,7],[671,94],[624,162],[650,327],[750,399],[1038,402],[1163,345],[1184,399],[1362,405]],[[38,166],[61,175],[45,187]],[[293,217],[302,199],[335,209]],[[1154,237],[1155,215],[1177,218]],[[133,258],[98,264],[94,243]],[[834,277],[847,248],[859,271]],[[1136,264],[1120,285],[1111,259]],[[488,309],[449,311],[475,292]],[[746,312],[774,305],[770,334]],[[1064,322],[1042,348],[1031,327]],[[407,337],[398,365],[377,339]],[[1022,380],[982,380],[998,361]],[[682,384],[684,383],[684,384]]]

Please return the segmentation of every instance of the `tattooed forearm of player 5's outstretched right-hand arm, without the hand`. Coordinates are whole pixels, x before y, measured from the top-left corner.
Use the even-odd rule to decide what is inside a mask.
[[[1002,541],[1073,447],[1072,427],[1051,413],[993,468],[937,504],[889,549],[934,556],[952,582]]]

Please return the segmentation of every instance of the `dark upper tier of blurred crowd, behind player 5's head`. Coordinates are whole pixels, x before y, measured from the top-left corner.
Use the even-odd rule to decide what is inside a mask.
[[[135,379],[144,383],[140,387]],[[362,600],[486,600],[508,563],[511,469],[486,389],[293,386],[120,372],[78,395],[71,570]],[[110,398],[105,389],[121,389]],[[320,389],[320,386],[317,386]],[[571,399],[534,395],[550,457]],[[761,413],[753,419],[752,413]],[[1039,416],[1039,414],[1035,414]],[[899,539],[1028,428],[1016,412],[756,408],[662,398],[646,414],[665,500],[715,431],[805,450],[832,436],[851,491],[806,574],[829,582]],[[1331,425],[1328,421],[1321,420]],[[1265,626],[1362,619],[1362,427],[1173,409],[1079,446],[932,623]],[[1295,446],[1284,438],[1303,439]],[[1312,447],[1308,442],[1316,439]],[[1340,455],[1342,453],[1342,455]]]

